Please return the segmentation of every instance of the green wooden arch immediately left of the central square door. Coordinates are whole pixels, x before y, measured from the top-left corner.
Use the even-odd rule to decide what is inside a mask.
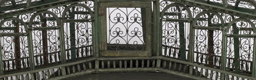
[[[90,12],[91,18],[94,18],[94,14],[93,14],[92,10],[88,6],[86,6],[84,4],[72,4],[72,5],[68,6],[68,7],[66,7],[65,10],[62,12],[62,17],[61,18],[62,19],[65,18],[65,15],[68,12],[68,10],[70,8],[72,8],[72,7],[75,7],[75,6],[81,6],[83,8],[86,8]]]

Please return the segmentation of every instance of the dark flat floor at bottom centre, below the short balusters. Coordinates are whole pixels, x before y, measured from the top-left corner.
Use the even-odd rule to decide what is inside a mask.
[[[66,80],[192,80],[159,72],[117,72],[77,76]]]

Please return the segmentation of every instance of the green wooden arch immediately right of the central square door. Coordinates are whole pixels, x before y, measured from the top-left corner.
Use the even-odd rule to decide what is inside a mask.
[[[181,7],[185,8],[185,9],[188,11],[189,19],[192,19],[192,13],[191,13],[190,9],[189,9],[187,6],[182,5],[182,4],[178,4],[178,3],[173,3],[173,4],[167,5],[167,6],[162,10],[162,12],[161,12],[161,14],[160,14],[160,18],[163,18],[165,11],[168,10],[168,9],[169,9],[170,7],[172,7],[172,6],[181,6]]]

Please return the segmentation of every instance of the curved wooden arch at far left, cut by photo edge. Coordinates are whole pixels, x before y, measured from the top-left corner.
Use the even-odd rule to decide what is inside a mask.
[[[0,22],[0,28],[2,28],[2,25],[4,24],[4,22],[8,21],[8,20],[16,20],[16,21],[19,21],[25,28],[25,31],[28,32],[28,26],[26,25],[26,23],[19,19],[19,18],[7,18],[7,19],[4,19],[2,22]]]

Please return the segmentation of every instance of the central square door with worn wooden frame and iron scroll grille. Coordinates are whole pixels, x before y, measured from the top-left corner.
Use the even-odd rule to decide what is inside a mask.
[[[151,2],[104,2],[102,7],[101,44],[106,46],[101,55],[150,57]]]

